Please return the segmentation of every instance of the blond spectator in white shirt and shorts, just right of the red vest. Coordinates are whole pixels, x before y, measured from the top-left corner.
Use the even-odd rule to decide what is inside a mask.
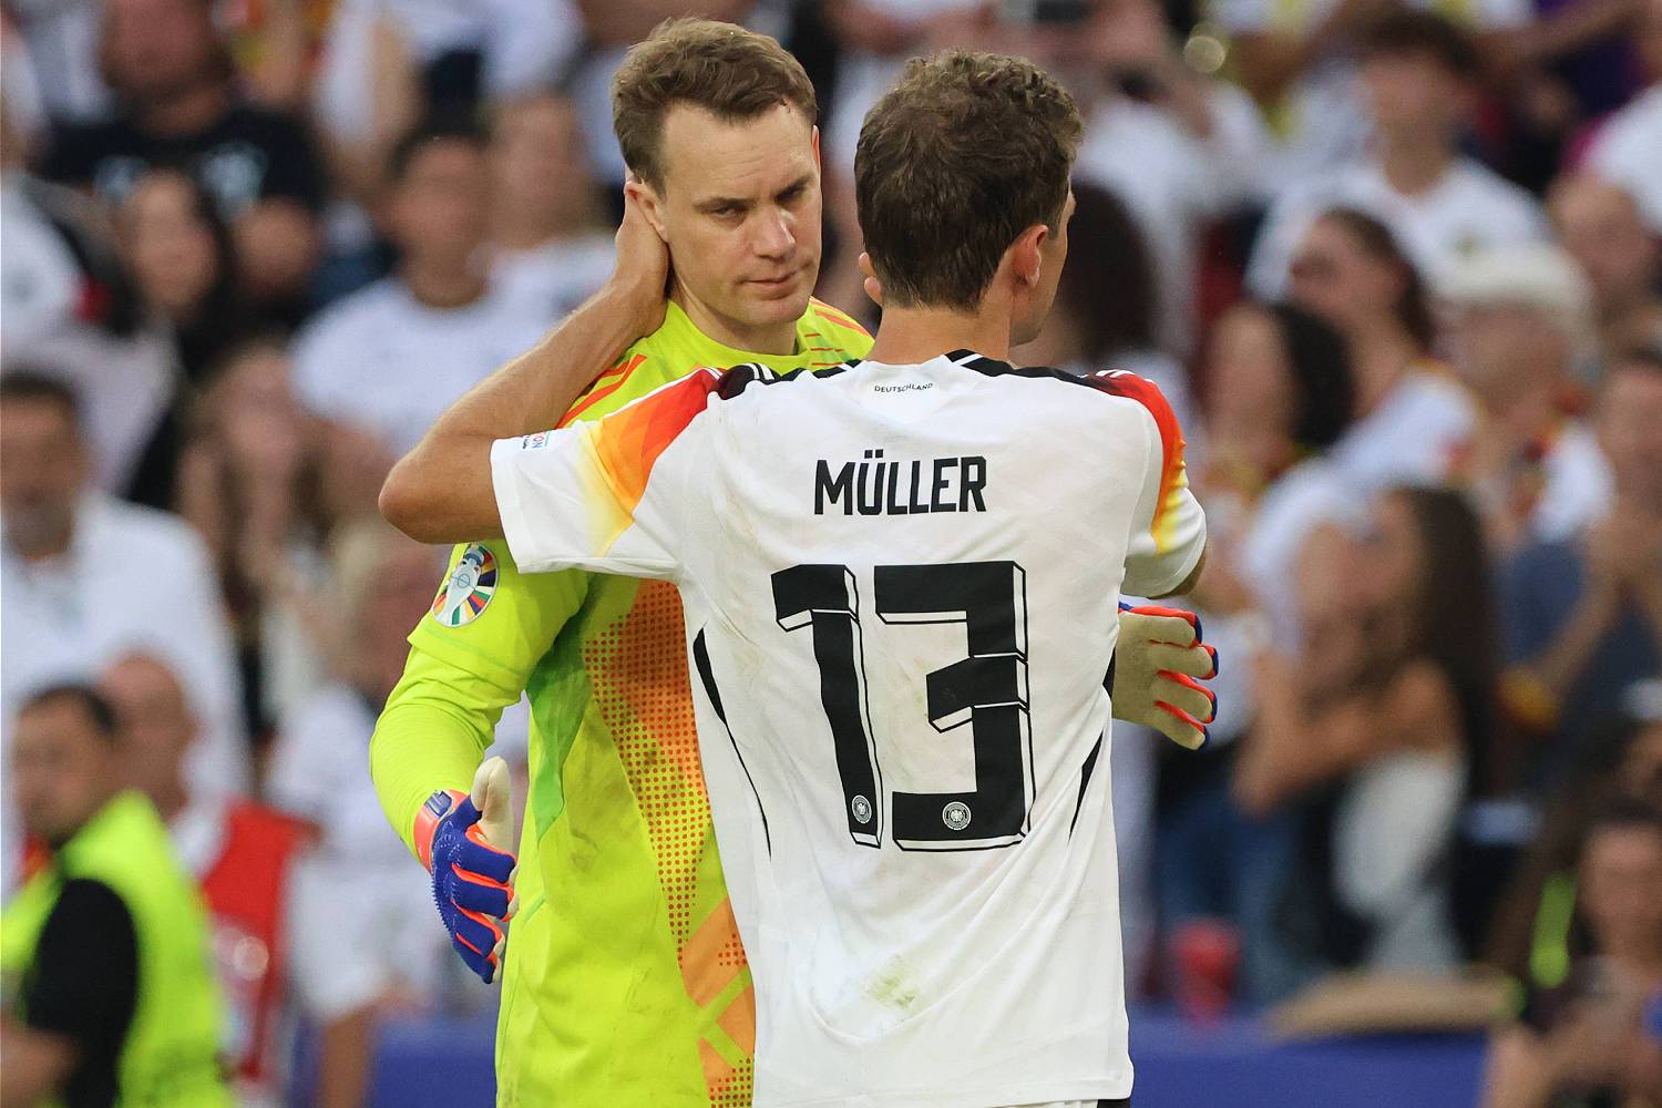
[[[379,520],[332,543],[337,628],[349,643],[336,681],[279,726],[266,794],[317,827],[317,849],[294,869],[291,934],[296,995],[322,1027],[316,1101],[362,1103],[372,1028],[384,1012],[435,1000],[449,950],[430,927],[432,890],[381,817],[369,779],[369,736],[409,653],[406,636],[432,601],[444,560]],[[351,904],[352,912],[341,912]]]

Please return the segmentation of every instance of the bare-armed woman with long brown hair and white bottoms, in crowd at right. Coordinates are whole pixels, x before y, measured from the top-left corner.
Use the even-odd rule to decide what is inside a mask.
[[[1448,862],[1497,726],[1483,528],[1459,493],[1396,488],[1348,581],[1303,651],[1255,659],[1258,718],[1235,794],[1251,812],[1303,817],[1315,880],[1290,890],[1301,912],[1288,915],[1313,929],[1301,947],[1335,967],[1453,967]]]

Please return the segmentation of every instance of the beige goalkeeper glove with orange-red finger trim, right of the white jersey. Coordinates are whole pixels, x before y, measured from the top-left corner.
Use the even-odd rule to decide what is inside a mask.
[[[1202,681],[1218,673],[1218,651],[1200,641],[1200,618],[1182,608],[1120,605],[1114,650],[1114,718],[1153,728],[1192,751],[1207,741],[1218,698]]]

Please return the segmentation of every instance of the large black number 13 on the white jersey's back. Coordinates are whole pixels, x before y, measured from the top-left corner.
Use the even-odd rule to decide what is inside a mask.
[[[876,615],[884,623],[962,623],[969,656],[927,676],[931,726],[951,734],[969,724],[976,787],[899,792],[891,837],[907,851],[981,851],[1019,842],[1032,807],[1032,734],[1027,719],[1025,571],[1014,561],[879,565]],[[883,839],[883,772],[871,734],[859,588],[843,565],[798,565],[773,575],[773,603],[786,631],[809,628],[819,666],[819,703],[831,724],[848,831]]]

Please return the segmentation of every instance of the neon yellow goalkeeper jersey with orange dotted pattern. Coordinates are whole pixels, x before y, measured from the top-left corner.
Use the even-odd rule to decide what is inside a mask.
[[[859,324],[818,301],[796,334],[791,357],[735,351],[671,304],[562,425],[701,365],[786,372],[871,347]],[[502,708],[522,689],[530,698],[497,1103],[748,1108],[756,1005],[716,857],[675,586],[585,571],[522,576],[507,543],[472,543],[457,548],[411,646],[376,738],[391,746],[389,731],[404,733],[399,764],[377,757],[376,784],[406,841],[427,794],[465,789],[477,764],[472,751],[457,764],[460,744],[420,736],[460,724],[484,749]]]

